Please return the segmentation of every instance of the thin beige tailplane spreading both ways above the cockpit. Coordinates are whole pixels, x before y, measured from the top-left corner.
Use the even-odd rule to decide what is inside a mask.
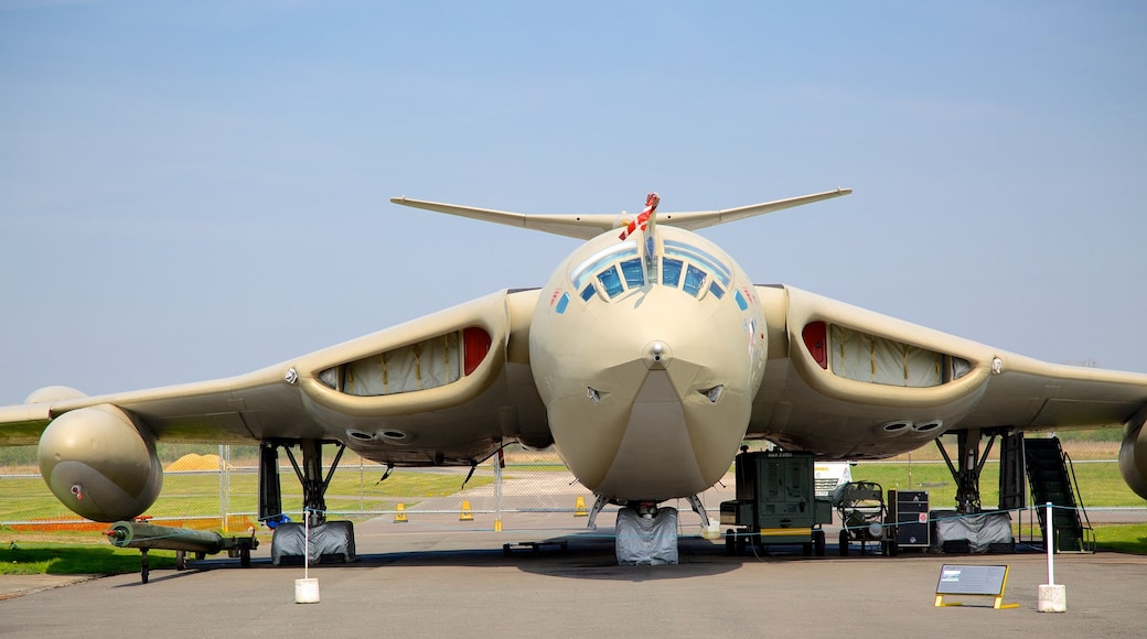
[[[738,208],[726,208],[721,211],[695,211],[688,213],[658,213],[658,223],[665,226],[672,226],[682,228],[686,230],[697,230],[707,227],[715,227],[725,222],[733,222],[736,220],[744,220],[747,218],[752,218],[755,215],[764,215],[765,213],[772,213],[773,211],[780,211],[782,208],[791,208],[794,206],[801,206],[803,204],[812,204],[814,202],[820,202],[822,199],[830,199],[834,197],[841,197],[852,192],[852,189],[836,189],[833,191],[825,191],[821,194],[812,194],[801,197],[793,197],[788,199],[778,199],[774,202],[766,202],[762,204],[751,204],[749,206],[741,206]],[[436,211],[438,213],[447,213],[450,215],[459,215],[461,218],[470,218],[474,220],[482,220],[485,222],[496,222],[499,224],[507,224],[510,227],[521,227],[525,229],[540,230],[554,235],[563,235],[565,237],[576,237],[579,239],[591,239],[606,232],[608,230],[625,227],[630,223],[632,218],[625,214],[567,214],[567,215],[554,215],[554,214],[529,214],[529,213],[510,213],[507,211],[496,211],[492,208],[476,208],[473,206],[459,206],[457,204],[443,204],[438,202],[426,202],[421,199],[409,199],[406,197],[395,197],[390,202],[395,204],[401,204],[403,206],[413,206],[415,208],[424,208],[427,211]]]

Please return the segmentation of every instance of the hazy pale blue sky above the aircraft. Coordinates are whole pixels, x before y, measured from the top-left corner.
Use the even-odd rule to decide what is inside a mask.
[[[846,198],[705,235],[786,283],[1147,372],[1139,2],[0,0],[0,404],[237,374],[576,242],[405,210]]]

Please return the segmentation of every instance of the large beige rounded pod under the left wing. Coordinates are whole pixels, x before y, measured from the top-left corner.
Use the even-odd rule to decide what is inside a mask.
[[[131,520],[155,503],[163,487],[155,439],[110,404],[54,419],[40,436],[38,458],[52,494],[94,521]]]

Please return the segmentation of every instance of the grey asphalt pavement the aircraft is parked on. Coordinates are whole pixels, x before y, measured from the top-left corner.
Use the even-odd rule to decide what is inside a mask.
[[[806,558],[799,546],[728,557],[720,541],[693,536],[682,513],[680,562],[618,566],[612,520],[598,531],[569,513],[458,521],[419,514],[356,528],[358,560],[306,569],[318,604],[297,604],[303,566],[272,566],[270,544],[252,566],[194,562],[184,571],[110,577],[0,577],[3,637],[1141,637],[1147,632],[1147,558],[1056,554],[1067,612],[1040,613],[1048,583],[1039,552],[945,555],[905,552]],[[834,537],[829,535],[829,541]],[[535,551],[530,543],[543,542]],[[560,542],[565,542],[562,550]],[[510,544],[507,553],[505,544]],[[1004,601],[946,598],[944,565],[1009,568]]]

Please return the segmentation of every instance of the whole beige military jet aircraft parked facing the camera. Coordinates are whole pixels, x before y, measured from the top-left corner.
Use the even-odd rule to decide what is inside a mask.
[[[0,408],[0,444],[39,444],[69,508],[131,519],[158,497],[157,441],[262,444],[260,516],[281,511],[278,450],[299,447],[321,522],[325,443],[390,467],[469,466],[510,442],[555,445],[607,504],[656,515],[729,468],[743,440],[821,459],[960,444],[961,510],[980,442],[1123,425],[1119,467],[1147,498],[1147,374],[1044,363],[785,285],[758,285],[694,231],[851,192],[724,211],[518,214],[405,206],[584,240],[539,289],[453,308],[233,378]],[[291,457],[294,460],[294,456]],[[336,462],[337,464],[337,462]]]

